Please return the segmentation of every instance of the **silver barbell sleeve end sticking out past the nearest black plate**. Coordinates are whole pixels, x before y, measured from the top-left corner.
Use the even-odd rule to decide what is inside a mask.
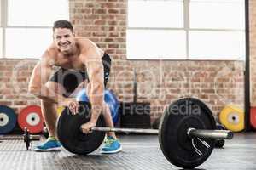
[[[206,139],[232,139],[234,133],[229,130],[200,130],[189,128],[187,134],[190,138],[206,138]]]

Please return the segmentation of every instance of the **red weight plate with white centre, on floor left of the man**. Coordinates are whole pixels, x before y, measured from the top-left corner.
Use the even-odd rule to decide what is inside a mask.
[[[18,116],[18,123],[20,128],[24,130],[25,127],[30,133],[40,133],[44,128],[44,119],[41,112],[41,107],[38,105],[29,105],[20,111]]]

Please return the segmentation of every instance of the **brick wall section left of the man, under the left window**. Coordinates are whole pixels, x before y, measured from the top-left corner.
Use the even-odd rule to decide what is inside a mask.
[[[38,59],[0,59],[0,105],[8,105],[16,113],[26,105],[39,105],[38,99],[27,93],[32,69]]]

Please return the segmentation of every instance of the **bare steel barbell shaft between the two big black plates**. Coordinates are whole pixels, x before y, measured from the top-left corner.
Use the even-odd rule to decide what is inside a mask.
[[[119,133],[147,133],[147,134],[159,133],[159,130],[156,130],[156,129],[141,129],[141,128],[92,127],[91,130],[101,131],[101,132],[119,132]]]

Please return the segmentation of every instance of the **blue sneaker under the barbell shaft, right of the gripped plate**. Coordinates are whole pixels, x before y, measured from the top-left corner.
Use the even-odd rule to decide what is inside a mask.
[[[114,139],[112,136],[108,136],[104,140],[104,146],[102,147],[102,154],[114,154],[122,150],[122,146],[119,143],[119,139]]]

